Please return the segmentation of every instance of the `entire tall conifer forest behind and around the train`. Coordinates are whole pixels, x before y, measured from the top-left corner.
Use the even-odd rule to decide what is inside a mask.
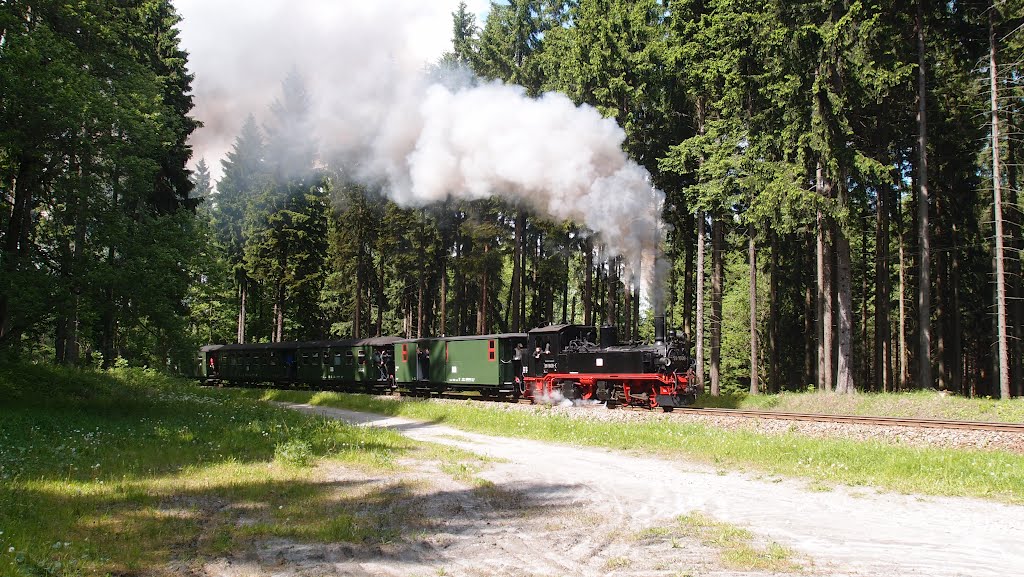
[[[1024,393],[1024,2],[452,16],[426,78],[558,92],[625,131],[665,193],[668,323],[712,394]],[[189,170],[179,23],[170,0],[0,1],[4,355],[187,373],[205,343],[549,323],[650,338],[651,303],[583,223],[501,196],[410,206],[352,177],[299,67],[222,176]]]

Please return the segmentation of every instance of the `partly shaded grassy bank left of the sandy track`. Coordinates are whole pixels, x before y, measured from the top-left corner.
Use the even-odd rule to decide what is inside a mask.
[[[318,468],[392,470],[413,448],[394,432],[153,372],[4,365],[0,399],[4,577],[173,574],[171,560],[275,535],[387,540],[409,490]]]

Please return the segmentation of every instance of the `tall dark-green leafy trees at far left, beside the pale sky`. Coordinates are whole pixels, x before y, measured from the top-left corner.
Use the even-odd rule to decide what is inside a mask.
[[[197,122],[168,0],[0,5],[0,343],[184,364]]]

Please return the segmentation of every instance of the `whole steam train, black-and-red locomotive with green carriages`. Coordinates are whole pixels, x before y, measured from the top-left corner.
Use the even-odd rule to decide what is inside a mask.
[[[551,325],[527,333],[403,339],[212,344],[199,353],[207,384],[259,384],[487,399],[593,401],[660,407],[699,394],[686,343],[654,320],[654,343],[618,343],[613,327]]]

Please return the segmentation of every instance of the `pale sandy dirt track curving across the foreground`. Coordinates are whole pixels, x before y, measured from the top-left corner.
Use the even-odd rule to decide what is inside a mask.
[[[792,549],[800,574],[1024,575],[1024,507],[715,470],[687,461],[487,437],[438,424],[340,409],[296,408],[493,459],[476,477],[492,491],[414,464],[406,479],[431,489],[434,527],[386,545],[260,543],[217,560],[217,576],[738,576],[720,550],[677,537],[682,514],[702,512],[750,530],[755,543]],[[343,475],[339,471],[338,475]],[[386,480],[382,480],[386,481]],[[393,482],[394,480],[390,480]],[[489,497],[488,497],[489,494]]]

